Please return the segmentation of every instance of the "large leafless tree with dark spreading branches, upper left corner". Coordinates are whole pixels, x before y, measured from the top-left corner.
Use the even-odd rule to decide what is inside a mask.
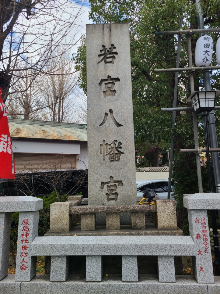
[[[82,2],[69,0],[3,0],[0,11],[0,87],[5,102],[8,95],[29,89],[36,77],[53,74],[46,65],[57,57],[54,52],[62,56],[77,44],[83,9]],[[20,79],[25,83],[26,77],[27,87],[19,90],[15,85]]]

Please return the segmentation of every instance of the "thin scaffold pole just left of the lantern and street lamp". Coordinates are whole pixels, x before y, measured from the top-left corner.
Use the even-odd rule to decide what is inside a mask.
[[[187,46],[188,46],[189,67],[192,67],[193,66],[193,60],[192,60],[192,48],[191,48],[191,36],[190,36],[190,34],[187,35]],[[194,92],[193,72],[190,72],[190,91],[191,91],[191,94]],[[199,148],[197,117],[196,117],[195,111],[192,112],[192,115],[193,115],[193,131],[194,131],[195,148]],[[201,163],[200,163],[200,156],[199,156],[198,153],[196,153],[196,167],[197,167],[197,178],[198,178],[199,193],[203,193]]]

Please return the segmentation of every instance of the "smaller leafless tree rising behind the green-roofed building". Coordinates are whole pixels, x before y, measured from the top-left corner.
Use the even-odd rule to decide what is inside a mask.
[[[60,54],[63,48],[58,47],[51,54],[53,59],[49,60],[45,70],[50,75],[45,74],[41,80],[41,96],[47,104],[45,120],[58,122],[72,122],[77,108],[77,78],[74,65],[68,52]]]

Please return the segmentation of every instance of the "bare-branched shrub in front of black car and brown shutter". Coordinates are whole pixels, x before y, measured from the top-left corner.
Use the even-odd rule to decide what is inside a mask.
[[[57,158],[57,156],[55,157]],[[87,170],[75,170],[75,167],[71,166],[71,164],[68,169],[64,170],[61,168],[61,162],[66,160],[65,155],[61,154],[59,157],[59,161],[51,160],[48,165],[45,165],[42,158],[42,162],[39,161],[37,168],[36,166],[31,166],[28,162],[25,166],[24,163],[26,172],[17,171],[15,180],[12,180],[17,189],[17,195],[37,196],[42,194],[42,190],[50,193],[52,188],[57,195],[58,202],[60,202],[61,196],[66,201],[66,195],[73,195],[82,188],[86,189]],[[19,185],[17,185],[18,183]],[[8,185],[7,182],[5,184]]]

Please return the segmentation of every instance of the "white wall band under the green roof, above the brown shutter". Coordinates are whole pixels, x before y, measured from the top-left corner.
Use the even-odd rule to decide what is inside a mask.
[[[12,140],[14,153],[80,154],[80,144],[43,140]]]

